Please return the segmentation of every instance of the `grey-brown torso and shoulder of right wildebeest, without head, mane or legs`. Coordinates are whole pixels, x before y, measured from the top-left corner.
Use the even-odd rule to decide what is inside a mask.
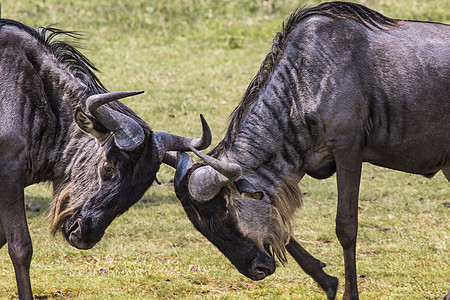
[[[286,173],[280,167],[328,177],[334,149],[349,146],[361,148],[364,161],[411,173],[448,165],[448,26],[428,38],[420,35],[424,26],[436,25],[379,30],[305,19],[232,136],[245,150],[235,151],[236,161],[274,170],[270,180]]]

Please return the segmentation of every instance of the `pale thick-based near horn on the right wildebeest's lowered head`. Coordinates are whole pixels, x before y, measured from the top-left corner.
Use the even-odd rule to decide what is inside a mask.
[[[211,200],[222,187],[241,176],[242,170],[238,164],[220,161],[192,147],[191,150],[208,164],[196,169],[189,178],[189,193],[196,201]]]

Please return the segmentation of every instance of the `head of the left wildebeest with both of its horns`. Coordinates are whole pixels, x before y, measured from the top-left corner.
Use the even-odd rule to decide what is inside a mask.
[[[55,191],[52,230],[62,229],[76,248],[93,247],[113,219],[142,197],[156,179],[166,151],[188,150],[192,145],[203,149],[211,142],[202,116],[203,136],[191,139],[152,132],[120,103],[105,105],[137,93],[97,94],[87,99],[86,112],[81,108],[75,112],[78,127],[88,135],[77,139],[79,145],[73,147],[83,151],[79,157],[72,155],[69,182]]]

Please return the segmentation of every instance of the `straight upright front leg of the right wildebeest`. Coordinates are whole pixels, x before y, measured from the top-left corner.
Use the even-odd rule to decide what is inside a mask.
[[[351,152],[336,156],[338,206],[336,235],[344,250],[345,289],[344,300],[358,298],[356,277],[356,237],[358,233],[358,193],[361,180],[362,159]]]

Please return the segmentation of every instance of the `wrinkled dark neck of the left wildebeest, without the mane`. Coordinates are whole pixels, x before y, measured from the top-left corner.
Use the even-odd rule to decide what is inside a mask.
[[[10,47],[1,49],[1,65],[17,71],[10,81],[14,86],[5,90],[19,92],[17,105],[10,109],[17,109],[11,113],[21,120],[17,126],[11,126],[20,128],[16,134],[32,145],[23,151],[27,162],[26,185],[58,178],[64,172],[63,153],[76,129],[73,112],[85,100],[88,87],[32,37],[14,31],[6,34]],[[10,59],[11,55],[16,58]]]

